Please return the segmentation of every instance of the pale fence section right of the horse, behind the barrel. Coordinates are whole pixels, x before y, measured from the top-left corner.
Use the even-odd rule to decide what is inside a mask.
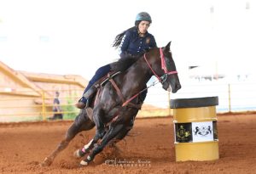
[[[217,112],[243,112],[256,110],[256,83],[239,81],[224,83],[205,81],[184,84],[172,98],[199,98],[218,96]]]

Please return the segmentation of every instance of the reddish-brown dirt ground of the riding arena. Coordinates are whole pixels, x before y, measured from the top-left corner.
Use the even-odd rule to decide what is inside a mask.
[[[172,117],[167,117],[137,119],[130,136],[118,144],[119,153],[102,164],[79,167],[80,160],[73,158],[93,129],[74,138],[52,166],[41,167],[71,123],[0,124],[0,173],[256,173],[256,115],[218,115],[219,160],[176,162]]]

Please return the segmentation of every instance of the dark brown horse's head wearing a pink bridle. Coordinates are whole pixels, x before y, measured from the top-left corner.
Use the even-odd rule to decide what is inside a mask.
[[[151,57],[152,72],[162,83],[165,90],[172,88],[172,93],[176,93],[181,88],[177,76],[176,65],[172,59],[172,52],[170,50],[171,42],[166,47],[154,49]],[[146,57],[145,57],[146,59]]]

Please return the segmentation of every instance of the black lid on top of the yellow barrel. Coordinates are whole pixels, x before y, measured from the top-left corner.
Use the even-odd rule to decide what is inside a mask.
[[[177,98],[171,99],[171,108],[198,108],[218,105],[218,96],[207,98]]]

